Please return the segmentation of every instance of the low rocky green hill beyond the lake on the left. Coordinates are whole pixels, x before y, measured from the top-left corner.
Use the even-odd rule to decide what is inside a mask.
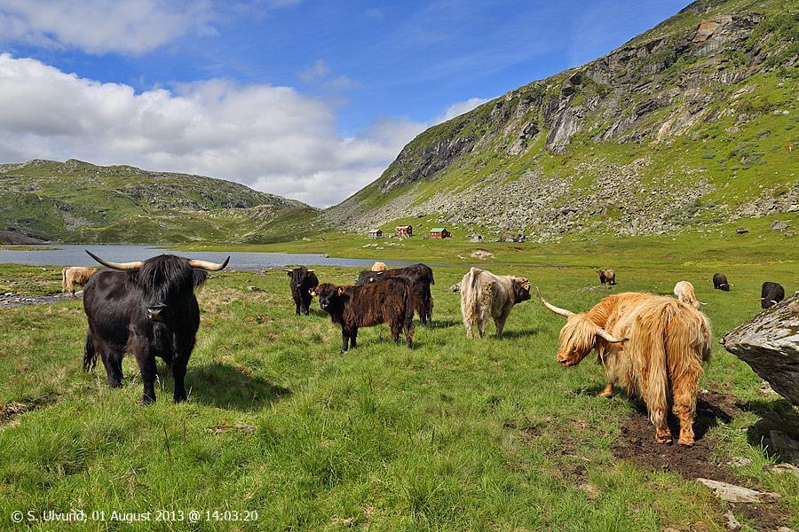
[[[0,231],[8,240],[268,242],[293,239],[292,224],[316,213],[210,177],[80,160],[0,165]]]

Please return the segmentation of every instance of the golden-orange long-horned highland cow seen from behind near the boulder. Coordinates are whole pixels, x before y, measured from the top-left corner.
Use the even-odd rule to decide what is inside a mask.
[[[580,364],[591,349],[605,367],[600,395],[613,395],[619,382],[630,395],[640,395],[655,426],[655,439],[670,443],[668,404],[680,421],[678,442],[692,446],[693,417],[702,363],[710,356],[710,323],[699,310],[673,298],[650,293],[619,293],[587,312],[574,313],[544,300],[543,305],[566,317],[560,331],[558,363]]]

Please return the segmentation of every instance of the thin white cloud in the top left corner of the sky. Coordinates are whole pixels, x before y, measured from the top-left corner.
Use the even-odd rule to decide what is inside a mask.
[[[140,54],[186,35],[216,35],[210,0],[0,0],[0,42]]]

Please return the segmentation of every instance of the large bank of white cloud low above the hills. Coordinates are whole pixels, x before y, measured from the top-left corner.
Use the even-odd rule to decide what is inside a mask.
[[[479,101],[450,106],[442,117]],[[385,118],[343,137],[328,100],[290,87],[210,80],[137,94],[0,54],[0,162],[130,164],[326,207],[374,181],[431,123]]]

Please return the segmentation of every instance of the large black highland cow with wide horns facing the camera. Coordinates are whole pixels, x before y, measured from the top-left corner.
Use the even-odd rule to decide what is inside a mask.
[[[99,270],[83,290],[83,310],[89,319],[83,370],[97,365],[99,354],[111,387],[122,386],[124,353],[136,356],[144,382],[142,403],[155,401],[155,357],[171,368],[173,398],[186,401],[186,364],[200,327],[200,309],[194,288],[202,286],[208,271],[222,264],[162,254],[146,261],[109,262],[88,253],[107,268]]]

